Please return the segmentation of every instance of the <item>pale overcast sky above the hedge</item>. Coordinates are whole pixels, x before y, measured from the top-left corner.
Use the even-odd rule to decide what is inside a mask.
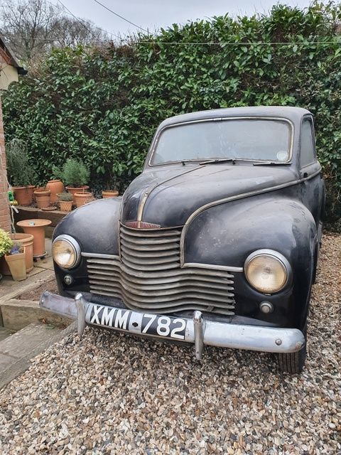
[[[50,0],[58,4],[58,0]],[[114,16],[94,0],[60,0],[72,14],[93,21],[108,32],[129,34],[138,30],[121,18]],[[142,28],[154,31],[156,28],[171,26],[172,23],[185,23],[197,18],[229,13],[252,15],[255,12],[264,14],[276,4],[271,0],[99,0],[117,14]],[[283,0],[280,3],[304,8],[308,0]]]

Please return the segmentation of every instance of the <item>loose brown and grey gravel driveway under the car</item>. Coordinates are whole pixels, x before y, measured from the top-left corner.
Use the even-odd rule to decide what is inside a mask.
[[[271,355],[87,328],[0,392],[1,454],[337,454],[341,236],[325,235],[301,376]],[[339,412],[337,414],[337,412]]]

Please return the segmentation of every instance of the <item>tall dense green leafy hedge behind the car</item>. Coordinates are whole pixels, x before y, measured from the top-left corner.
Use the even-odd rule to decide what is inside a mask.
[[[328,217],[335,221],[340,11],[340,4],[304,11],[276,6],[269,16],[173,25],[120,47],[55,50],[4,95],[6,139],[27,142],[41,181],[53,164],[80,157],[91,168],[95,191],[109,183],[122,191],[141,171],[153,132],[166,117],[217,107],[306,107],[315,115]]]

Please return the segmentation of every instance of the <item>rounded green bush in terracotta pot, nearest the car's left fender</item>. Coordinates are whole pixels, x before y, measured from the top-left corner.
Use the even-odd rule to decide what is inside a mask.
[[[89,189],[87,182],[90,178],[90,171],[82,161],[77,159],[67,159],[62,171],[62,180],[65,183],[67,191],[72,194],[82,193]]]

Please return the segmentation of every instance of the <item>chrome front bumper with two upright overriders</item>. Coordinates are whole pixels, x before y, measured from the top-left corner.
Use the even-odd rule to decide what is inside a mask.
[[[92,323],[90,316],[98,304],[87,301],[82,294],[77,294],[75,299],[51,294],[45,291],[40,297],[40,307],[53,313],[77,319],[78,335],[82,336],[87,323]],[[101,305],[102,306],[102,305]],[[113,306],[108,306],[108,311],[124,311]],[[141,320],[143,314],[139,311],[129,310],[130,318],[126,329],[102,325],[101,321],[96,326],[122,330],[134,335],[141,335]],[[120,313],[121,314],[121,313]],[[164,315],[163,315],[164,316]],[[200,311],[193,312],[193,319],[183,318],[187,321],[185,329],[185,343],[195,344],[195,355],[201,358],[205,345],[221,346],[223,348],[259,350],[268,353],[293,353],[305,345],[303,333],[297,328],[275,328],[266,326],[247,326],[242,324],[222,323],[205,320]],[[151,338],[164,338],[162,336],[149,336]],[[169,338],[168,338],[169,340]]]

